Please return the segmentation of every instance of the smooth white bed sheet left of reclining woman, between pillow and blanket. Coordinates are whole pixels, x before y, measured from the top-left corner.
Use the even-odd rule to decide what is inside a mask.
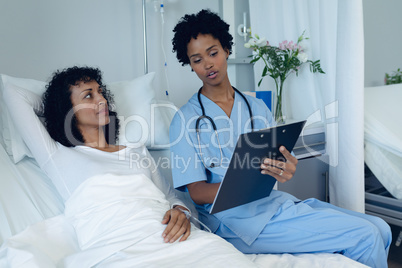
[[[64,210],[53,184],[31,159],[14,164],[0,146],[0,174],[0,244]]]

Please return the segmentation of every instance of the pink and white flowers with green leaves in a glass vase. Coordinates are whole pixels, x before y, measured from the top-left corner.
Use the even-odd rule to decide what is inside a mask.
[[[284,123],[282,114],[282,89],[286,78],[292,73],[296,73],[297,76],[301,66],[305,63],[310,64],[311,72],[325,73],[321,69],[320,60],[312,61],[308,59],[304,48],[300,44],[305,39],[308,38],[304,37],[303,32],[296,43],[285,40],[276,47],[271,46],[265,38],[260,38],[256,34],[251,36],[250,40],[244,44],[246,48],[250,48],[254,51],[253,55],[250,56],[253,58],[250,63],[262,60],[265,64],[258,86],[261,85],[262,79],[264,79],[265,76],[269,75],[275,80],[277,94],[275,121],[278,123]]]

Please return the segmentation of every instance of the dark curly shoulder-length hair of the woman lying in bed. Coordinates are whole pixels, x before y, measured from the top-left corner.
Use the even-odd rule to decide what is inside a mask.
[[[110,110],[110,107],[113,106],[113,95],[103,84],[102,73],[97,68],[74,66],[53,73],[43,95],[47,131],[55,141],[64,146],[74,147],[84,144],[70,98],[71,86],[75,86],[81,81],[96,81],[102,88],[102,95],[107,101],[110,118],[110,123],[105,126],[105,137],[108,143],[115,144],[119,133],[119,119],[117,113]]]

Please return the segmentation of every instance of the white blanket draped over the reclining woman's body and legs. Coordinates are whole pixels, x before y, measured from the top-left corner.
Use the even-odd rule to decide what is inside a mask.
[[[144,175],[101,175],[83,184],[66,202],[81,251],[67,267],[253,266],[232,245],[194,229],[188,241],[164,243],[162,218],[170,204]],[[219,258],[216,257],[220,256]]]

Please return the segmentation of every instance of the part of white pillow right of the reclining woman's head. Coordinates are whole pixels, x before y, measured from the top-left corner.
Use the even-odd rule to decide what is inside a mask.
[[[107,84],[120,119],[119,144],[169,148],[169,125],[177,108],[170,102],[156,100],[154,77],[152,72],[130,81]]]

